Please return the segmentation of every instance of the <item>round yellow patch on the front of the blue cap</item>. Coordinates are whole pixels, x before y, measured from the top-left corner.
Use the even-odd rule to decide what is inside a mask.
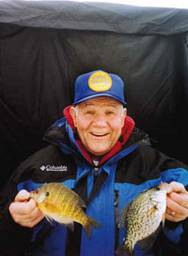
[[[107,91],[112,86],[112,79],[105,72],[97,71],[89,77],[88,86],[95,92]]]

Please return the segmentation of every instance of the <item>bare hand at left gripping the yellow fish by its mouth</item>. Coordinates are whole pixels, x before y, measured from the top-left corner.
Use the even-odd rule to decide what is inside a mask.
[[[30,193],[26,190],[21,190],[17,194],[9,205],[9,213],[16,223],[27,228],[33,228],[44,217],[36,201],[30,198]]]

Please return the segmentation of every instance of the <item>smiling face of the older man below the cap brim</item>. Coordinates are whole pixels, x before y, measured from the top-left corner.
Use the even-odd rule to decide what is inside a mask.
[[[110,97],[96,97],[71,108],[71,117],[82,144],[91,154],[102,156],[118,141],[126,109]]]

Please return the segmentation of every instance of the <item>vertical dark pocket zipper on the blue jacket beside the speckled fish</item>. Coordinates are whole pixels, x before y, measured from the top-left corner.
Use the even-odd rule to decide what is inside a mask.
[[[119,247],[119,228],[118,228],[118,205],[119,205],[119,197],[118,197],[118,190],[115,190],[115,252]],[[116,253],[115,253],[116,255]]]

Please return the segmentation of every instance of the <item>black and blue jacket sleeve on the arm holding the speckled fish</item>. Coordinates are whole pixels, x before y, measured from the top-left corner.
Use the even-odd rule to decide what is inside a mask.
[[[149,147],[140,146],[139,158],[137,164],[140,169],[145,170],[140,172],[143,179],[156,179],[161,178],[162,181],[170,183],[175,180],[182,183],[188,189],[188,166],[183,162],[170,158],[164,153]],[[140,160],[141,158],[141,160]],[[146,171],[147,170],[147,171]],[[164,228],[161,230],[160,235],[154,246],[156,255],[172,255],[172,256],[185,256],[188,255],[188,218],[175,223],[165,221]]]

